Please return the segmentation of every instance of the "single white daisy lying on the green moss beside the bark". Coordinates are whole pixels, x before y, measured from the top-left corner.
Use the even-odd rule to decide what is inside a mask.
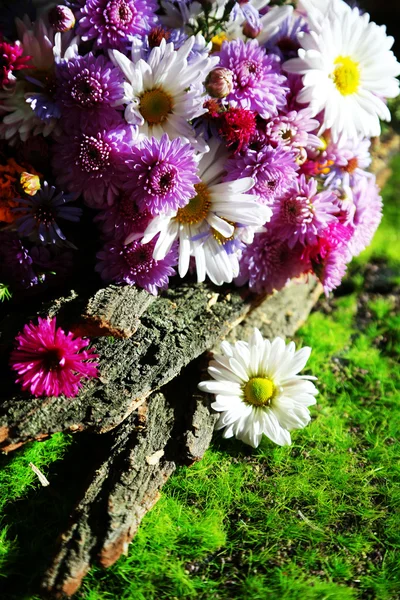
[[[292,429],[302,429],[311,417],[308,406],[318,394],[316,379],[298,375],[304,369],[311,348],[296,352],[294,342],[287,346],[282,338],[265,340],[254,329],[249,342],[221,344],[208,373],[211,381],[202,381],[199,389],[215,394],[212,408],[220,414],[216,429],[223,437],[237,437],[257,448],[264,435],[280,446],[291,443]]]

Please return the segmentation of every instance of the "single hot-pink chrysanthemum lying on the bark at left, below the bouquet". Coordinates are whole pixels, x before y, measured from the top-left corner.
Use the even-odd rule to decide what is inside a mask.
[[[56,327],[56,319],[42,319],[25,325],[16,337],[10,364],[19,377],[17,383],[35,396],[76,396],[83,378],[98,377],[98,358],[89,340],[75,337]]]

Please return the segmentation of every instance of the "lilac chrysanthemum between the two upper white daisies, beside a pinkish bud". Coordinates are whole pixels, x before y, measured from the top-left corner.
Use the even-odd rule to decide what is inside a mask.
[[[278,109],[286,105],[288,88],[279,59],[268,55],[257,40],[224,42],[219,57],[219,66],[233,72],[228,102],[254,110],[264,119],[277,115]]]

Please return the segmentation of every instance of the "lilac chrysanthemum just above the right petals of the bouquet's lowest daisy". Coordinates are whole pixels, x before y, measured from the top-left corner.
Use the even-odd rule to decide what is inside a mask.
[[[274,198],[287,192],[296,180],[298,165],[295,156],[283,148],[264,146],[259,152],[249,151],[236,155],[226,164],[226,181],[235,181],[242,177],[253,177],[256,194],[261,201],[270,204]]]

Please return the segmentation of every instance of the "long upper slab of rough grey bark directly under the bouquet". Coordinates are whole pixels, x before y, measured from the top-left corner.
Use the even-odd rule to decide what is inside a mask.
[[[141,314],[140,325],[129,339],[101,337],[96,340],[100,379],[85,384],[76,398],[43,400],[15,393],[14,388],[14,393],[0,405],[0,448],[11,451],[29,440],[44,439],[56,431],[89,429],[104,433],[113,429],[152,391],[168,383],[184,366],[211,349],[262,301],[267,319],[279,319],[280,314],[286,312],[288,303],[297,304],[289,320],[297,323],[305,318],[309,308],[304,310],[304,307],[311,306],[310,298],[314,298],[316,286],[314,279],[302,285],[291,284],[266,300],[251,295],[242,297],[238,290],[216,291],[205,284],[188,283],[169,290],[165,296],[148,304]],[[102,297],[104,295],[102,291]],[[137,315],[136,294],[124,294],[124,298],[124,312],[131,309]],[[68,310],[73,302],[75,300],[67,303]],[[90,304],[94,305],[94,301]],[[141,302],[141,309],[143,305]],[[60,303],[57,311],[62,317]],[[111,321],[113,316],[109,319]],[[115,318],[114,326],[116,322]]]

